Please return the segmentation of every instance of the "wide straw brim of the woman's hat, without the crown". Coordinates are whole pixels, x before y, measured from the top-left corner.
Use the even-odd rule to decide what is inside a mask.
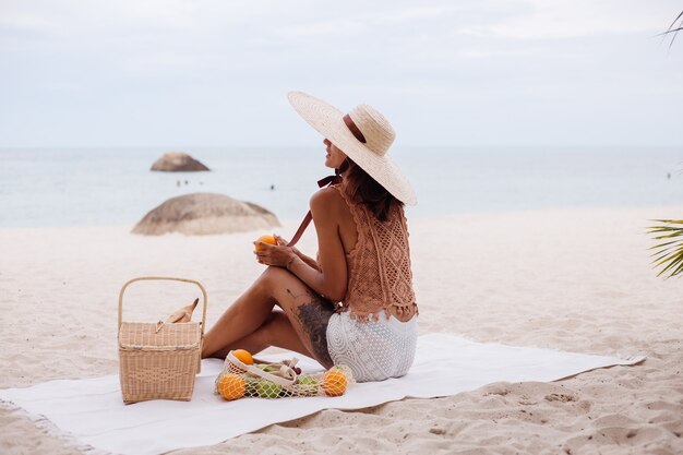
[[[386,191],[406,205],[417,204],[415,191],[398,166],[388,154],[380,156],[358,141],[344,123],[344,112],[302,92],[290,92],[287,97],[307,123],[336,145]]]

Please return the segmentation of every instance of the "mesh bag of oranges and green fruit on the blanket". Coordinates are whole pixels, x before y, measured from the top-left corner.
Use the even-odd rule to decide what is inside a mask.
[[[232,400],[247,397],[340,396],[354,384],[351,370],[336,366],[308,374],[297,368],[298,359],[264,362],[243,349],[231,350],[216,378],[215,393]]]

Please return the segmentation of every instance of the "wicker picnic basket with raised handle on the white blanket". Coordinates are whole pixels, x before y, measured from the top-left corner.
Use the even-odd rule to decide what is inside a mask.
[[[191,283],[202,291],[202,322],[124,322],[123,292],[135,282],[172,280]],[[190,400],[194,378],[200,372],[206,290],[193,279],[146,276],[133,278],[119,294],[119,363],[123,403],[148,399]]]

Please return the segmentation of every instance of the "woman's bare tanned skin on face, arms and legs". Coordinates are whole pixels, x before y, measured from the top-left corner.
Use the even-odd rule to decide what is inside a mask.
[[[325,140],[325,166],[339,168],[346,155]],[[322,189],[311,197],[319,256],[313,260],[277,237],[278,244],[259,243],[261,276],[228,307],[204,337],[202,358],[225,358],[231,349],[252,354],[277,346],[301,352],[323,367],[333,366],[327,351],[327,322],[334,301],[346,295],[346,254],[357,241],[352,216],[337,190]]]

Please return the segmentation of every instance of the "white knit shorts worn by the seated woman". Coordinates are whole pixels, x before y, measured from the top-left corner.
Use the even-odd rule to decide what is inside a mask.
[[[327,324],[327,350],[335,364],[345,364],[358,382],[384,381],[408,372],[415,358],[418,318],[400,322],[380,313],[378,321],[360,322],[348,311]]]

